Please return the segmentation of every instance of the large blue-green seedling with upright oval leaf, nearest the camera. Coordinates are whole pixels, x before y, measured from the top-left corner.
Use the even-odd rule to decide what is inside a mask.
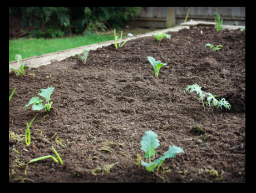
[[[184,153],[183,149],[174,145],[169,147],[169,150],[166,151],[161,158],[156,159],[151,163],[151,156],[156,154],[155,149],[160,145],[159,140],[157,139],[157,134],[155,134],[154,131],[146,131],[140,144],[141,150],[145,152],[144,158],[149,158],[149,163],[141,161],[141,165],[145,166],[147,171],[154,171],[156,166],[158,166],[158,171],[159,167],[161,164],[163,164],[166,158],[175,158],[176,154]]]

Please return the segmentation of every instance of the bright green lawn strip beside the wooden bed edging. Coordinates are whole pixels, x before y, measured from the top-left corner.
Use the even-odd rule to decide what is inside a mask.
[[[127,37],[128,33],[133,35],[153,32],[160,29],[129,29],[123,31],[122,38]],[[121,30],[117,31],[118,38],[120,38]],[[29,58],[37,55],[48,54],[52,52],[58,52],[65,49],[71,49],[81,47],[84,45],[90,45],[100,42],[106,42],[114,40],[114,32],[110,34],[97,35],[92,34],[88,36],[78,35],[65,38],[54,39],[35,39],[35,38],[19,38],[9,40],[9,62],[15,60],[15,54],[22,55],[22,59]]]

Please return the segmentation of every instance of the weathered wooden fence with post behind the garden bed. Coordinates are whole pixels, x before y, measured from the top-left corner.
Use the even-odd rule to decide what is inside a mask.
[[[214,22],[216,7],[142,7],[140,15],[127,25],[171,28],[184,23],[188,11],[187,22]],[[245,7],[218,7],[218,13],[224,25],[245,26]]]

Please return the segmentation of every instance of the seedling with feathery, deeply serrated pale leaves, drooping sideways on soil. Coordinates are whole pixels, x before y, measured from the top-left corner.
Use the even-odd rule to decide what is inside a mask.
[[[190,88],[191,88],[191,90],[190,90],[189,93],[191,93],[191,92],[193,92],[193,91],[196,91],[196,94],[199,94],[199,100],[202,101],[203,106],[204,106],[203,100],[204,100],[204,98],[208,95],[208,96],[207,96],[207,101],[206,101],[206,103],[205,103],[206,105],[209,106],[208,111],[210,110],[211,105],[214,105],[215,108],[218,108],[218,109],[221,108],[221,110],[222,110],[222,106],[225,106],[225,108],[230,109],[230,106],[231,106],[231,105],[228,103],[228,101],[225,100],[225,98],[219,99],[219,101],[218,101],[217,99],[215,99],[215,97],[218,96],[218,95],[213,95],[213,94],[211,94],[211,93],[203,92],[203,91],[201,90],[201,87],[199,87],[198,84],[188,85],[188,87],[184,90],[184,93],[185,93],[185,91],[188,91]],[[212,109],[212,110],[213,110],[213,109]]]

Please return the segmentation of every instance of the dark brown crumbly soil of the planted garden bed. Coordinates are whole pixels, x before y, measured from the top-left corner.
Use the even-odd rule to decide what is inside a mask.
[[[24,77],[9,75],[9,95],[16,88],[9,132],[23,138],[9,135],[9,182],[245,182],[245,31],[219,33],[184,29],[169,32],[171,39],[164,38],[160,48],[156,38],[144,37],[119,49],[112,44],[91,50],[86,65],[70,57],[29,69]],[[206,43],[223,48],[213,52]],[[168,63],[159,77],[148,56]],[[199,95],[184,93],[192,84],[225,97],[230,110],[204,110]],[[32,105],[25,110],[48,87],[55,88],[50,113]],[[32,145],[26,146],[26,122],[35,116]],[[193,133],[193,126],[203,134]],[[155,173],[136,165],[149,130],[160,140],[152,160],[171,145],[185,152]],[[56,143],[60,139],[63,146]],[[57,158],[51,146],[63,164],[51,158],[32,162],[25,176],[29,160]]]

